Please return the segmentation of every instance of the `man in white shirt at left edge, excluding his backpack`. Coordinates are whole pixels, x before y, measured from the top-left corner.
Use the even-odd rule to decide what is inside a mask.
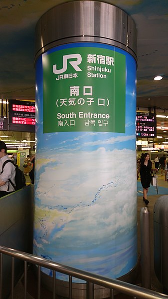
[[[6,160],[11,160],[7,155],[7,148],[3,141],[0,141],[0,197],[15,191],[15,166],[13,163],[6,163],[3,170],[2,166]],[[10,184],[9,180],[12,182]]]

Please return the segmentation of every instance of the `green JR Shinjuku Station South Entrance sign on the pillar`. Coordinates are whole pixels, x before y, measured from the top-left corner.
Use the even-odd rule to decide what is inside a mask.
[[[43,132],[125,133],[126,57],[99,47],[42,55]]]

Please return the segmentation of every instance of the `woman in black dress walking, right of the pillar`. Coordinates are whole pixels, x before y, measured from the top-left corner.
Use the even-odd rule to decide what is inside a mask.
[[[143,186],[143,199],[145,204],[148,205],[149,201],[147,199],[147,194],[152,180],[152,162],[148,153],[144,154],[143,159],[141,160],[140,167],[137,172],[137,178],[139,172],[141,175],[141,184]]]

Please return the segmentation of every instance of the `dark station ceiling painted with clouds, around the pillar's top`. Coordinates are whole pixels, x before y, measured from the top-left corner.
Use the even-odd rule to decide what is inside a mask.
[[[48,9],[63,2],[69,1],[0,1],[0,99],[35,98],[35,25]],[[168,0],[106,2],[126,11],[137,26],[137,109],[156,107],[158,114],[168,116]],[[163,79],[154,81],[156,75]],[[167,119],[160,119],[159,124],[168,127]],[[162,129],[157,131],[158,135],[162,133]],[[34,138],[32,133],[18,134],[13,132],[13,138]]]

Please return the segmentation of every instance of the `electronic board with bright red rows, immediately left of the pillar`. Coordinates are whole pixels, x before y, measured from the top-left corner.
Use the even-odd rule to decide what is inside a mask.
[[[35,102],[9,100],[9,131],[35,132]]]

